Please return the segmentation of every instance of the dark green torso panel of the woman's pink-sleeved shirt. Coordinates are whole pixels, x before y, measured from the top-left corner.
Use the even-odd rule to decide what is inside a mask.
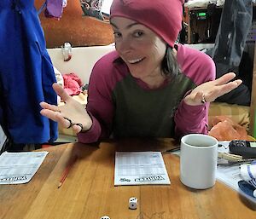
[[[174,137],[174,115],[194,82],[184,74],[160,89],[142,89],[128,74],[113,89],[116,137]]]

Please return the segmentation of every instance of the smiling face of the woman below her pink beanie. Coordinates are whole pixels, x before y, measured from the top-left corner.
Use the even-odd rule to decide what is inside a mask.
[[[160,75],[166,43],[148,27],[123,17],[113,17],[115,49],[134,78],[148,79]]]

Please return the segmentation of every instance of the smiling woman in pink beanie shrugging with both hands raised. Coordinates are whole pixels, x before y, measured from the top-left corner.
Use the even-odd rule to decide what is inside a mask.
[[[113,0],[110,23],[116,51],[97,61],[90,76],[86,110],[53,87],[64,107],[41,103],[41,113],[78,133],[80,142],[116,137],[181,137],[207,134],[209,102],[241,80],[228,73],[213,80],[205,54],[175,44],[181,0]]]

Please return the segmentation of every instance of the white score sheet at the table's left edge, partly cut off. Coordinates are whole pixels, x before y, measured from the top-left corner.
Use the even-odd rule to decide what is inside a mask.
[[[4,152],[0,156],[0,184],[29,182],[49,152]]]

